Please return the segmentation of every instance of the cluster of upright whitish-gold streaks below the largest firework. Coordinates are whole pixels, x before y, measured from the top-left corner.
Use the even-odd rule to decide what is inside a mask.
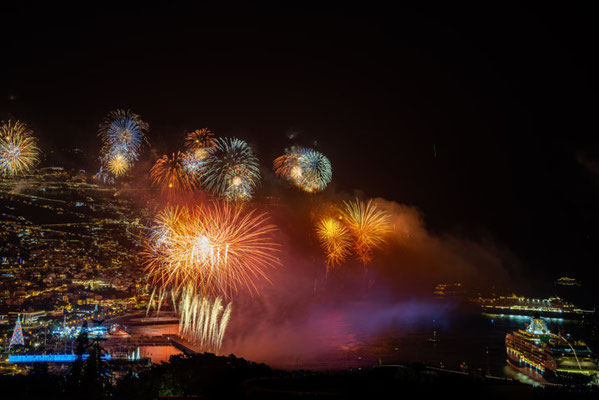
[[[179,297],[179,334],[205,351],[217,353],[231,317],[232,303],[223,304],[220,297],[210,300],[192,287]]]

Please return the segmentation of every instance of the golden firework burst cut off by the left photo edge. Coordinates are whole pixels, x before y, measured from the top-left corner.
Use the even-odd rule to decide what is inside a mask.
[[[0,125],[0,176],[13,177],[30,173],[39,162],[37,139],[20,121]]]

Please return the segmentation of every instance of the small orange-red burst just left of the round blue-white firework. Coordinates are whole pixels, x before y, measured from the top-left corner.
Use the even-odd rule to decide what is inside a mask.
[[[196,187],[197,178],[183,168],[184,160],[185,155],[178,151],[171,157],[163,155],[152,166],[150,176],[162,192],[184,192]]]

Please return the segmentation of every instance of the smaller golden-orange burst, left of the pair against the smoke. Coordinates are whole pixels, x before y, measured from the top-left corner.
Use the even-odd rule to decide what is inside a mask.
[[[316,235],[327,255],[327,267],[335,267],[349,255],[351,237],[339,220],[322,218],[316,227]]]

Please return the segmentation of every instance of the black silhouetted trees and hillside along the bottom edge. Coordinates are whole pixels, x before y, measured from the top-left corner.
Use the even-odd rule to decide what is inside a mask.
[[[91,358],[91,357],[90,357]],[[377,366],[361,371],[285,372],[237,358],[197,354],[174,356],[169,363],[127,374],[111,383],[105,365],[88,360],[69,374],[36,367],[26,376],[0,376],[9,399],[591,399],[588,388],[533,388],[507,380],[437,371],[423,365]]]

